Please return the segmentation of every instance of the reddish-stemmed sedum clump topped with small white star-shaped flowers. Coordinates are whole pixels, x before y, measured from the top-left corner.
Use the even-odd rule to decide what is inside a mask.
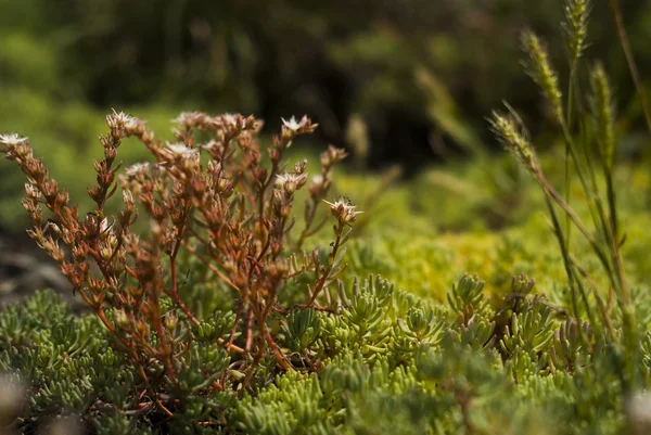
[[[335,221],[329,252],[299,251],[323,225],[316,222],[316,208],[345,152],[330,146],[322,154],[294,241],[294,195],[307,184],[307,162],[288,168],[282,158],[296,137],[317,127],[307,117],[283,121],[267,164],[256,141],[261,124],[252,116],[183,113],[174,120],[178,142],[166,144],[124,113],[106,121],[97,185],[88,189],[97,207],[86,214],[51,179],[26,138],[1,136],[0,151],[27,176],[23,205],[35,225],[29,235],[60,265],[133,368],[140,406],[173,417],[178,397],[252,388],[256,374],[275,367],[293,371],[277,344],[279,319],[292,309],[330,309],[321,296],[343,270],[343,245],[360,213],[348,201],[326,201]],[[153,162],[118,174],[118,149],[127,138],[139,140]],[[118,188],[122,207],[108,216]],[[144,234],[137,229],[139,213],[146,215]],[[181,253],[205,267],[207,280],[227,284],[233,312],[202,319],[192,311],[181,298]],[[283,306],[279,294],[299,278],[303,303]]]

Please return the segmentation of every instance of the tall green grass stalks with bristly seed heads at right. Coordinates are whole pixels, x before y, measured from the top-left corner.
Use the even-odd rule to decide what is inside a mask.
[[[613,3],[616,7],[616,2]],[[587,0],[566,2],[564,28],[570,54],[566,97],[561,91],[559,76],[542,41],[531,30],[522,36],[523,48],[528,54],[528,73],[540,87],[565,144],[562,193],[546,177],[529,135],[511,106],[507,104],[506,114],[494,112],[490,123],[499,140],[542,189],[575,318],[586,316],[591,328],[604,336],[613,351],[618,354],[618,363],[623,368],[622,382],[626,389],[635,389],[640,378],[639,367],[635,363],[640,330],[622,254],[626,234],[617,213],[614,185],[617,158],[614,102],[608,76],[600,64],[590,71],[591,93],[587,101],[582,102],[577,98],[577,74],[582,72],[579,61],[587,44],[589,11],[590,3]],[[621,35],[625,35],[618,24]],[[626,52],[625,44],[624,50]],[[633,59],[629,62],[635,76],[637,67]],[[585,103],[589,104],[589,110],[584,110]],[[643,99],[642,105],[646,107]],[[573,172],[579,181],[591,228],[571,204]],[[587,255],[578,257],[575,254],[573,231],[578,231],[578,235],[587,242],[599,264],[599,276],[585,267],[589,258]],[[599,279],[601,277],[603,281]],[[613,327],[615,317],[622,319],[622,331]],[[590,338],[586,334],[580,336],[589,344]]]

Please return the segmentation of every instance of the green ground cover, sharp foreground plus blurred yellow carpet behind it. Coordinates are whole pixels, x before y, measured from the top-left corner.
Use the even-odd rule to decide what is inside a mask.
[[[490,228],[489,216],[482,213],[486,204],[499,202],[485,180],[490,176],[486,168],[500,162],[496,156],[481,165],[434,168],[388,188],[381,176],[339,174],[337,191],[359,204],[373,197],[348,245],[347,278],[340,290],[346,307],[342,316],[296,312],[281,333],[283,347],[295,349],[290,355],[297,367],[311,359],[322,367],[311,374],[273,374],[267,361],[256,375],[257,386],[242,400],[226,393],[190,395],[169,421],[151,409],[135,411],[138,376],[95,318],[74,318],[52,294],[3,309],[0,367],[18,373],[29,398],[16,427],[29,433],[63,414],[101,434],[628,431],[633,423],[624,401],[629,393],[622,389],[608,349],[588,353],[576,323],[560,314],[571,309],[571,302],[536,185],[521,179],[520,205],[503,216],[500,228]],[[624,254],[646,331],[651,320],[644,286],[651,266],[651,235],[644,230],[649,176],[642,166],[626,166],[617,177],[631,187],[622,191],[620,202],[628,234]],[[441,185],[442,178],[447,185]],[[485,193],[460,201],[456,183]],[[573,202],[579,205],[580,191],[575,193]],[[450,216],[463,216],[465,228],[448,228]],[[578,238],[576,243],[582,246]],[[586,264],[598,271],[596,261]],[[224,321],[232,321],[229,300],[219,296],[221,284],[203,282],[192,261],[186,268],[184,297],[190,305],[205,304],[205,321],[220,334],[215,307]],[[481,277],[484,287],[463,280],[452,290],[465,272]],[[387,281],[354,290],[354,277],[371,273]],[[535,280],[531,295],[542,298],[513,305],[509,295],[518,289],[512,277],[520,273]],[[520,329],[513,330],[514,318]],[[192,350],[197,360],[221,355],[209,341],[201,343]],[[650,350],[641,345],[641,360],[649,361]],[[644,380],[647,363],[640,364]]]

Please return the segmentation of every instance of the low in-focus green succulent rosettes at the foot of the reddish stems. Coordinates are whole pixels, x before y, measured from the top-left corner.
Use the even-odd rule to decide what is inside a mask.
[[[557,321],[532,286],[514,280],[502,311],[471,277],[437,306],[379,278],[341,284],[333,312],[293,309],[281,320],[277,344],[295,370],[270,370],[273,361],[241,394],[167,384],[158,397],[173,417],[156,410],[129,355],[106,345],[115,340],[97,316],[75,318],[39,293],[0,311],[0,370],[29,399],[10,428],[73,414],[98,434],[623,433],[616,366],[585,345],[588,327]],[[195,370],[202,358],[213,359],[179,356]]]

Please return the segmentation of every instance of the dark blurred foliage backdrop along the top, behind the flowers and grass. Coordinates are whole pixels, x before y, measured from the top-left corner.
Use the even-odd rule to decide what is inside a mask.
[[[1,0],[0,130],[50,136],[43,127],[63,123],[46,116],[54,108],[79,123],[59,127],[67,136],[81,117],[97,117],[88,104],[190,104],[278,119],[280,116],[307,113],[342,144],[357,116],[368,125],[371,162],[411,170],[450,149],[485,146],[482,119],[505,95],[525,117],[537,112],[514,41],[528,25],[554,42],[561,16],[556,2],[519,0]],[[647,71],[651,7],[625,2],[624,17]],[[614,36],[608,8],[595,8],[590,50],[608,53],[635,123]],[[566,63],[562,50],[552,57]]]

